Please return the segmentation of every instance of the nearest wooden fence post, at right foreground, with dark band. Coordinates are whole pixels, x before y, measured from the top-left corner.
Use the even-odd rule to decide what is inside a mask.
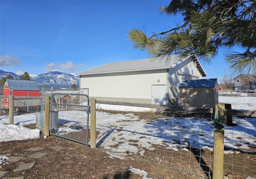
[[[219,112],[219,113],[218,113]],[[219,115],[219,123],[216,123]],[[213,143],[213,179],[223,178],[224,163],[224,124],[225,104],[216,104],[214,119],[214,143]]]

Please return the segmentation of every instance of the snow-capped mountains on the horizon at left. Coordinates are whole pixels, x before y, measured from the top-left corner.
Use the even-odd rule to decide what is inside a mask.
[[[12,76],[12,78],[20,78],[24,73],[23,72],[4,72],[3,70],[0,70],[0,80],[2,78],[6,78],[8,75]],[[32,75],[29,74],[31,80],[36,81],[40,87],[43,87],[44,85],[47,86],[47,88],[54,87],[54,88],[70,88],[72,84],[76,84],[76,86],[79,88],[79,78],[72,75],[72,74],[66,74],[64,72],[60,72],[58,70],[52,70],[50,72],[47,72],[45,74],[40,75]]]

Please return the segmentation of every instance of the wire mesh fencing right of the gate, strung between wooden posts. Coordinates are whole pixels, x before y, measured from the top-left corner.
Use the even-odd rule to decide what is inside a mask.
[[[212,114],[97,104],[97,146],[112,157],[146,160],[195,178],[212,178]],[[225,127],[224,175],[256,177],[256,119]]]

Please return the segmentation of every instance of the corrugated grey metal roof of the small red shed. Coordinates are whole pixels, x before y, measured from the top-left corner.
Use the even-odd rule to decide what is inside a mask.
[[[7,79],[6,82],[10,90],[40,91],[39,85],[36,81]]]

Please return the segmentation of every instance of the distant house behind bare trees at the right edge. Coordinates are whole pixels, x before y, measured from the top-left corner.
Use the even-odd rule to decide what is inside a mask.
[[[235,81],[235,90],[255,90],[256,89],[256,75],[254,74],[240,74]]]

